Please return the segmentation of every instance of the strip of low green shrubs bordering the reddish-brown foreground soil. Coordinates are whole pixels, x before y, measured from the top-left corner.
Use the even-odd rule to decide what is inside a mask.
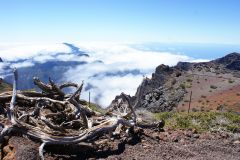
[[[155,113],[158,120],[165,120],[169,129],[195,129],[198,132],[240,130],[240,115],[232,112],[162,112]]]

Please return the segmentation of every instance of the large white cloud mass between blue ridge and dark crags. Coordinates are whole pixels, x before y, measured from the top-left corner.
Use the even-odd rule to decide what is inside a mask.
[[[76,45],[87,51],[92,59],[103,63],[88,63],[69,69],[65,78],[77,82],[83,79],[91,84],[91,89],[87,91],[91,91],[92,98],[102,106],[108,106],[121,92],[134,95],[143,75],[150,77],[154,69],[162,63],[172,66],[179,61],[199,61],[186,55],[145,51],[123,44]],[[136,72],[138,70],[140,72]],[[87,99],[88,93],[85,92],[82,96]]]

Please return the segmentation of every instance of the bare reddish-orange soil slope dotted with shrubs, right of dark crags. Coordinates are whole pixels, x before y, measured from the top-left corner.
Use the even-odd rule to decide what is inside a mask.
[[[186,77],[184,77],[186,78]],[[186,88],[183,100],[177,110],[187,111],[189,107],[190,93],[192,92],[191,110],[198,111],[231,110],[240,113],[240,79],[231,74],[196,73],[188,77],[192,80],[189,88]],[[232,80],[232,82],[229,82]],[[183,79],[182,81],[186,81]],[[216,88],[211,88],[215,86]]]

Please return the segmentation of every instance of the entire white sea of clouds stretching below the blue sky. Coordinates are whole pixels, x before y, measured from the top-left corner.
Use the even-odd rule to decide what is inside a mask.
[[[143,76],[151,74],[160,64],[173,66],[179,61],[199,62],[184,53],[158,52],[137,49],[129,44],[119,43],[74,43],[74,46],[89,55],[79,56],[69,46],[58,44],[0,44],[0,76],[4,77],[6,66],[31,67],[47,61],[84,61],[83,65],[71,67],[62,73],[61,81],[81,83],[85,92],[82,97],[106,107],[121,92],[134,95]]]

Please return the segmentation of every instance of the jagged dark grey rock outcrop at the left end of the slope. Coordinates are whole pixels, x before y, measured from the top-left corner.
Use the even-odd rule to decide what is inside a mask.
[[[171,111],[185,94],[185,89],[173,83],[175,77],[180,76],[178,73],[180,70],[176,67],[159,65],[151,79],[143,79],[135,96],[130,97],[131,103],[151,112]],[[121,99],[121,95],[116,96],[110,106],[119,104]]]

